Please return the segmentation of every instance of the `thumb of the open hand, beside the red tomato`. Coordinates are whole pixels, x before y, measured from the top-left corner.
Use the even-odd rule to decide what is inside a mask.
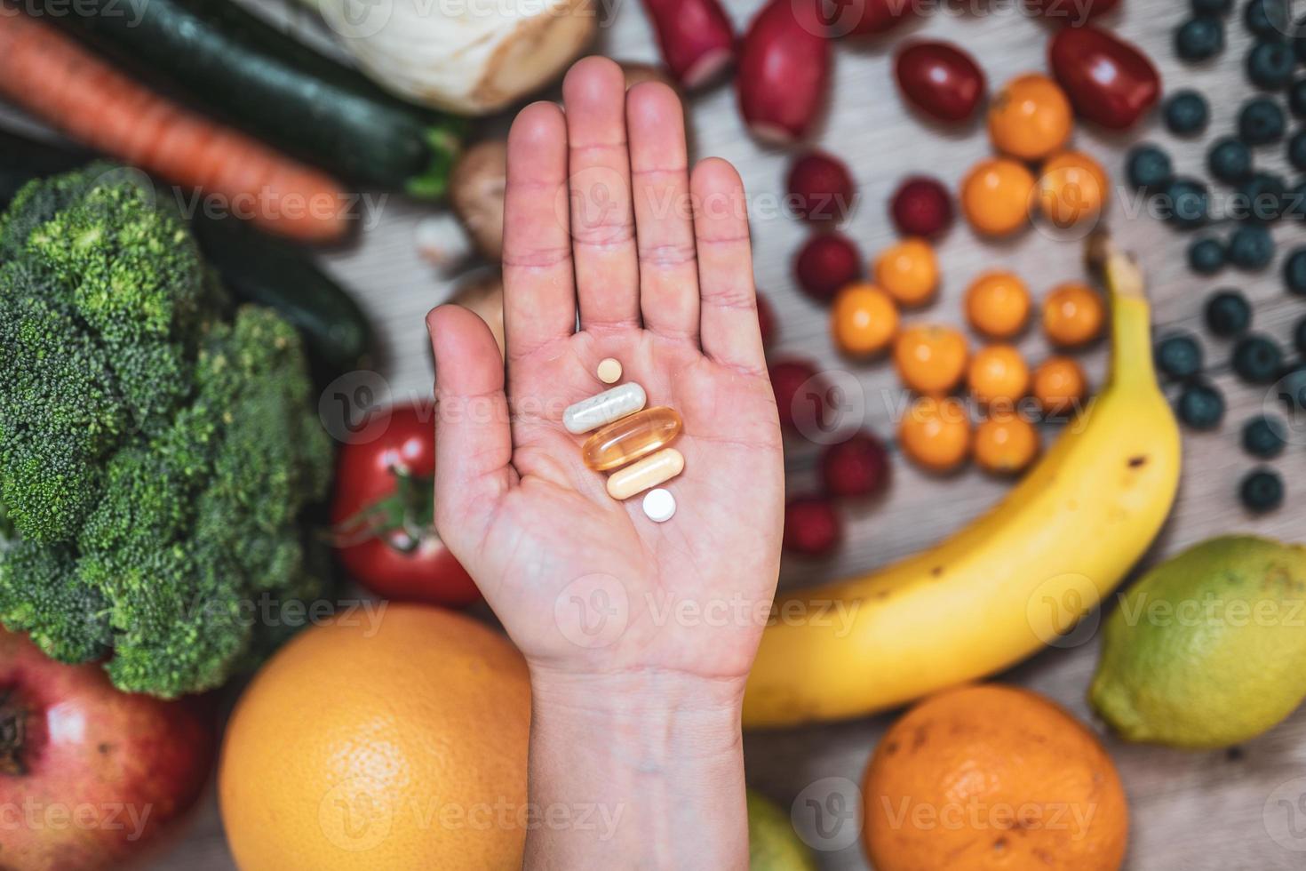
[[[462,562],[517,482],[503,356],[486,323],[461,306],[434,309],[426,328],[435,353],[435,526]]]

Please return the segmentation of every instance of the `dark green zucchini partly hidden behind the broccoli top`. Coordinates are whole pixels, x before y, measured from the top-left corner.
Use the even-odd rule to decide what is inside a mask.
[[[0,131],[0,209],[31,179],[91,159],[89,151]],[[330,380],[364,362],[372,347],[367,317],[299,248],[240,221],[197,215],[191,227],[205,259],[238,299],[274,308],[299,329],[316,375]]]

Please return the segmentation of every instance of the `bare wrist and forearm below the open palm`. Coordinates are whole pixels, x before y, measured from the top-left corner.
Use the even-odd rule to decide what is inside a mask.
[[[748,867],[741,686],[533,670],[532,696],[528,870]]]

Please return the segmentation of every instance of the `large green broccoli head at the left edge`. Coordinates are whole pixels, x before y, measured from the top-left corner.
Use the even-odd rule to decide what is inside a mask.
[[[114,683],[223,683],[321,594],[304,509],[326,492],[298,333],[227,311],[185,223],[103,165],[0,218],[0,623]]]

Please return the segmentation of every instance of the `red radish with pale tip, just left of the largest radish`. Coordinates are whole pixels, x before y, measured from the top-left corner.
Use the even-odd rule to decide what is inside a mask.
[[[644,0],[671,74],[686,87],[716,77],[734,57],[735,35],[717,0]]]

